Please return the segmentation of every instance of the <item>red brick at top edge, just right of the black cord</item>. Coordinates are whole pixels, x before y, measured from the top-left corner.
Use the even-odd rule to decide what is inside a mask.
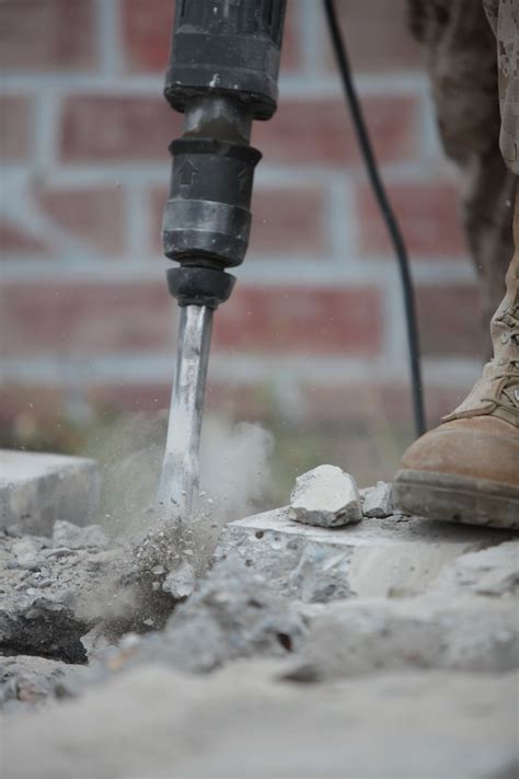
[[[407,28],[407,0],[341,0],[337,14],[354,72],[388,73],[423,69],[418,44]],[[335,69],[328,36],[326,62]]]

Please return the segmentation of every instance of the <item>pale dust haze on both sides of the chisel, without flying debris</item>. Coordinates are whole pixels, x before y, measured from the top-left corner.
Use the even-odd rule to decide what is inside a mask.
[[[101,463],[100,524],[113,538],[150,529],[165,446],[166,414],[124,416],[88,442]],[[219,526],[260,511],[272,479],[274,437],[264,427],[205,420],[196,514]]]

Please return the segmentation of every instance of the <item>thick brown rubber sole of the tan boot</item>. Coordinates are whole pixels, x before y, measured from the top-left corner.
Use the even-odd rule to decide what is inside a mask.
[[[393,484],[397,509],[429,519],[519,529],[519,486],[485,479],[401,470]]]

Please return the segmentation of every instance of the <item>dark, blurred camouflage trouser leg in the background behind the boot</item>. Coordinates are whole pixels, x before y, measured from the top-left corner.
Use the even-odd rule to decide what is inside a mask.
[[[485,8],[482,0],[408,3],[412,32],[427,51],[441,141],[464,174],[463,222],[481,279],[488,339],[488,322],[503,298],[514,254],[519,0],[484,0]],[[491,354],[487,340],[486,356]]]

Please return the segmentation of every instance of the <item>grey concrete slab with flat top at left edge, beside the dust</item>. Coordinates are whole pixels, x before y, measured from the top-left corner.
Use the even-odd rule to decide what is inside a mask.
[[[49,535],[56,519],[88,525],[99,504],[97,463],[82,457],[0,450],[0,528]]]

